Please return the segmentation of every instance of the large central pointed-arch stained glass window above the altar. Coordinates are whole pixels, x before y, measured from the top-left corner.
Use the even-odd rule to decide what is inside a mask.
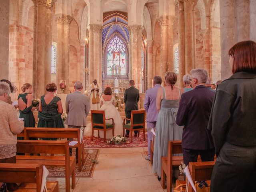
[[[126,60],[126,46],[118,36],[115,36],[108,44],[107,75],[126,75]]]

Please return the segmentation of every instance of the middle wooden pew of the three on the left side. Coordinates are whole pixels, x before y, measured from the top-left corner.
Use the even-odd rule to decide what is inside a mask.
[[[68,143],[68,141],[18,140],[18,153],[55,153],[65,154],[65,156],[17,155],[17,163],[65,167],[66,192],[70,192],[70,176],[72,176],[72,189],[74,189],[76,185],[76,158],[74,156],[69,156]]]

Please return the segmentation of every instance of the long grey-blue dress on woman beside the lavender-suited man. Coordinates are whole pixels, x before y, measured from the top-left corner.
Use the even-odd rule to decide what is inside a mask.
[[[180,100],[166,100],[164,88],[163,94],[164,99],[161,101],[161,109],[156,121],[152,168],[158,176],[161,176],[161,156],[167,156],[168,154],[169,140],[181,140],[182,138],[182,126],[175,123]]]

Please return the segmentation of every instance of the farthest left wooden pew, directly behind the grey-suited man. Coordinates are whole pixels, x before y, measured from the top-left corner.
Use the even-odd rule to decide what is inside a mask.
[[[80,143],[80,128],[30,128],[24,129],[24,139],[35,138],[77,138],[78,143],[72,148],[78,148],[78,171],[84,164],[84,143]]]

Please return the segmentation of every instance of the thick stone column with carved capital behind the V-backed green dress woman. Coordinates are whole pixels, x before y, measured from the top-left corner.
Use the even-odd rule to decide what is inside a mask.
[[[70,24],[73,18],[69,15],[61,15],[56,18],[57,21],[57,66],[56,83],[60,80],[66,80],[67,90],[70,89],[69,82],[69,37]]]

